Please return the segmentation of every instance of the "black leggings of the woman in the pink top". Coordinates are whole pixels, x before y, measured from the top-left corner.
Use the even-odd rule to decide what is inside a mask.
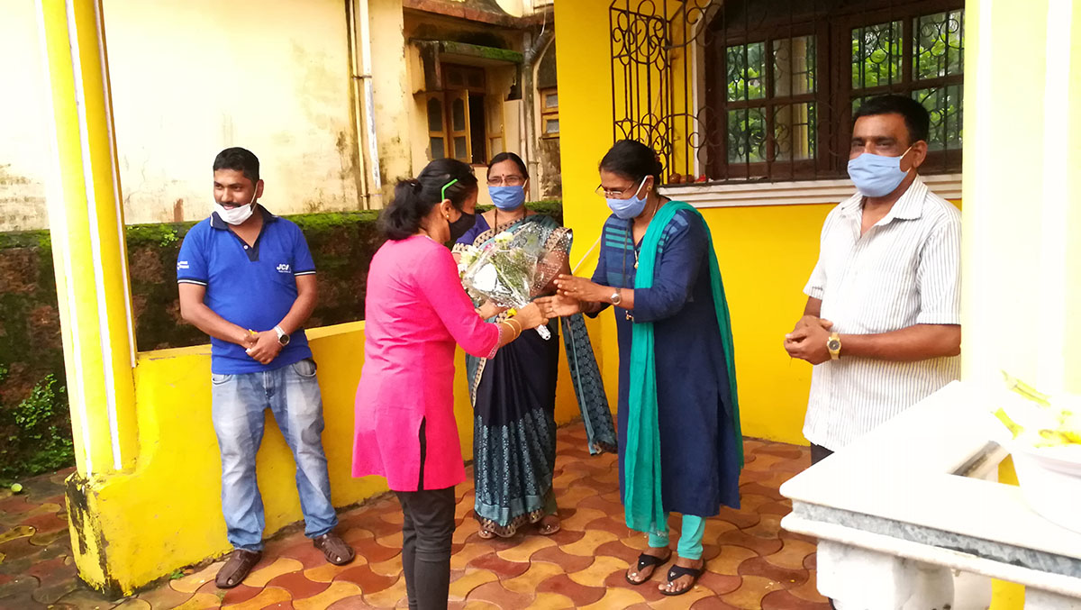
[[[421,422],[421,480],[417,491],[396,491],[402,505],[402,571],[410,610],[445,610],[451,586],[454,488],[424,489],[427,442]]]

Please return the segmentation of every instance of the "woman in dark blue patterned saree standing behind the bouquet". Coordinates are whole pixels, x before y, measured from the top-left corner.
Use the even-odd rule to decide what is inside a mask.
[[[473,228],[458,239],[456,250],[472,246],[483,249],[496,235],[515,234],[523,228],[538,230],[543,239],[555,238],[566,229],[550,216],[525,208],[529,188],[525,163],[513,152],[501,152],[488,169],[489,194],[495,207],[477,216]],[[561,252],[564,260],[569,252]],[[570,270],[564,263],[563,271]],[[555,292],[555,287],[551,288]],[[591,441],[612,448],[614,430],[608,401],[597,373],[592,350],[588,347],[585,324],[564,320],[569,353],[577,356],[574,374],[596,375],[592,392],[585,398],[592,406],[598,422],[591,429],[606,429]],[[552,491],[556,464],[556,372],[559,363],[559,326],[549,322],[551,339],[535,332],[499,350],[495,357],[466,356],[470,397],[473,401],[473,478],[477,498],[475,517],[479,535],[508,538],[525,526],[535,525],[543,535],[559,531],[559,514]],[[570,345],[570,337],[577,347]],[[582,341],[585,344],[582,344]],[[573,349],[573,352],[572,352]],[[590,368],[591,363],[591,368]],[[576,389],[585,389],[577,384]],[[579,397],[583,393],[579,392]],[[584,410],[587,411],[587,410]],[[605,426],[606,417],[606,426]],[[592,435],[597,437],[598,435]]]

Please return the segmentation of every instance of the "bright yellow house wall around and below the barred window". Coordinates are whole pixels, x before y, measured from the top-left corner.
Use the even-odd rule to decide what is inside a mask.
[[[609,4],[557,0],[563,217],[580,244],[576,262],[611,213],[593,194],[597,164],[612,145]],[[803,311],[803,284],[818,255],[818,235],[831,205],[703,210],[713,235],[732,313],[744,434],[805,445],[800,433],[811,367],[792,361],[784,335]],[[578,275],[589,275],[596,252]],[[600,352],[615,392],[618,366],[614,322],[603,316]],[[600,339],[600,337],[598,337]]]

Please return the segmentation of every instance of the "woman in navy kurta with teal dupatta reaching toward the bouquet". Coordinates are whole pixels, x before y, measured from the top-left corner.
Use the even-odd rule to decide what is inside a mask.
[[[619,343],[619,489],[627,526],[649,548],[626,574],[650,580],[671,557],[668,514],[682,514],[665,595],[702,574],[705,519],[739,506],[743,440],[728,304],[709,228],[691,205],[656,190],[648,146],[616,143],[600,163],[604,223],[591,279],[560,276],[548,315],[613,306]]]

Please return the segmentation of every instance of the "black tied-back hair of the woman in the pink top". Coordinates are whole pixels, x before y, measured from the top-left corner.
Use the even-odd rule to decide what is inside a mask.
[[[458,211],[466,199],[477,190],[477,176],[472,169],[457,159],[436,159],[425,165],[415,178],[403,180],[395,186],[395,200],[379,214],[378,228],[387,239],[405,239],[421,229],[421,221],[446,198]]]

